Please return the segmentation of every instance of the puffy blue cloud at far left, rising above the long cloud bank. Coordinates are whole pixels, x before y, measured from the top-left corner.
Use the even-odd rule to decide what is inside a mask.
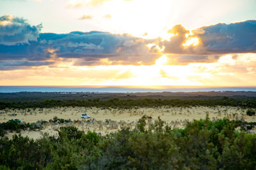
[[[0,17],[0,45],[29,44],[36,41],[42,25],[31,26],[23,18],[4,15]]]

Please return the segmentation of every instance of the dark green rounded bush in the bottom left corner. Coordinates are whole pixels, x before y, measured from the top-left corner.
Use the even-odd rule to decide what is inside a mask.
[[[10,169],[42,169],[46,166],[47,152],[42,143],[14,135],[13,139],[0,139],[1,166]]]

